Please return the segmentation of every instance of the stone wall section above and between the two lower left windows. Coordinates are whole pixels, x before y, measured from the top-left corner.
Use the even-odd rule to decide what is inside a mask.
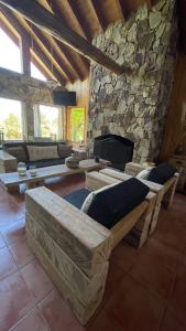
[[[0,68],[0,97],[22,102],[25,136],[34,132],[34,105],[53,105],[52,92],[46,82]]]

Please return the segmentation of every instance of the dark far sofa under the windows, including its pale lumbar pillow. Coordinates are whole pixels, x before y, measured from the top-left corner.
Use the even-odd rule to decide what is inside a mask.
[[[34,154],[34,158],[32,159],[29,149],[31,148],[33,149],[33,147],[36,148],[36,151],[34,150],[36,157]],[[6,142],[4,152],[11,156],[10,162],[13,164],[11,166],[11,171],[17,171],[17,163],[20,161],[25,162],[28,169],[30,166],[33,164],[36,168],[63,164],[65,162],[65,158],[70,156],[72,146],[66,145],[65,142],[17,141],[17,142]],[[44,158],[42,158],[42,153]],[[12,157],[15,158],[14,162],[12,160]],[[7,170],[8,168],[4,169],[4,172],[8,172]]]

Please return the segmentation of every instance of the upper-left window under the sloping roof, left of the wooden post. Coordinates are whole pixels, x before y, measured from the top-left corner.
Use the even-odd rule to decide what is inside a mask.
[[[2,29],[0,29],[0,66],[10,71],[21,73],[20,49],[14,44],[14,42],[12,42],[12,40],[6,32],[3,32]]]

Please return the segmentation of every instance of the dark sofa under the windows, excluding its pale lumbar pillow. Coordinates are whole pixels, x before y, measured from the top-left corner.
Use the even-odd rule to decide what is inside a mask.
[[[52,159],[41,159],[40,160],[31,160],[28,147],[57,147],[57,156]],[[64,148],[64,151],[62,149]],[[65,158],[69,157],[72,153],[72,146],[66,145],[65,142],[26,142],[26,141],[17,141],[17,142],[4,142],[4,152],[6,156],[10,154],[10,163],[13,163],[11,167],[11,172],[17,171],[17,163],[18,162],[25,162],[26,168],[29,169],[30,166],[35,166],[36,168],[56,166],[56,164],[64,164]],[[2,153],[2,152],[1,152]],[[17,160],[12,160],[12,157]],[[6,168],[6,167],[4,167]],[[9,172],[9,167],[4,169],[4,172]],[[12,169],[14,168],[14,169]],[[7,171],[8,170],[8,171]]]

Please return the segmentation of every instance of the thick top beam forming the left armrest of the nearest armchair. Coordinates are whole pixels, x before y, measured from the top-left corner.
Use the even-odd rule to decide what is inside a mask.
[[[111,233],[46,188],[25,193],[30,215],[47,232],[72,260],[89,277],[108,260]]]

